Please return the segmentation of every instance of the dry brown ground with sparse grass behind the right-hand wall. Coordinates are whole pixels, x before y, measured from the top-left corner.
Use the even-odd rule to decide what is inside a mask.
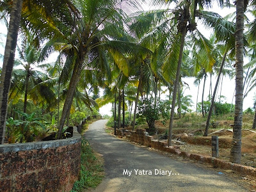
[[[230,120],[220,120],[215,122],[219,129],[210,129],[209,134],[220,130],[220,127],[225,127],[224,131],[214,133],[214,136],[219,136],[219,154],[220,159],[229,161],[230,147],[232,142],[232,124]],[[165,132],[168,127],[163,125],[160,121],[156,122],[156,127],[159,133]],[[180,145],[180,149],[189,153],[202,154],[211,156],[211,136],[202,136],[204,126],[202,128],[193,129],[192,125],[187,122],[182,125],[173,125],[173,136],[175,139],[184,141],[185,145]],[[193,132],[192,134],[190,134]],[[154,136],[157,138],[157,136]],[[242,130],[242,157],[241,164],[252,166],[256,168],[256,131],[243,129]]]

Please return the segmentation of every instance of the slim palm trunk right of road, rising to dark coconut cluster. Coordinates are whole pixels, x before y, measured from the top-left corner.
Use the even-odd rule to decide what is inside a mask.
[[[180,81],[180,68],[181,68],[181,63],[182,63],[182,55],[183,55],[183,48],[184,48],[186,32],[187,32],[187,28],[186,27],[182,28],[182,31],[180,34],[179,61],[178,61],[178,65],[177,65],[175,84],[174,84],[173,94],[172,94],[172,109],[171,109],[169,132],[168,132],[168,146],[172,145],[172,127],[173,127],[174,109],[175,109],[175,104],[176,104],[175,102],[176,102],[176,96],[177,96],[177,89],[178,89],[179,81]]]

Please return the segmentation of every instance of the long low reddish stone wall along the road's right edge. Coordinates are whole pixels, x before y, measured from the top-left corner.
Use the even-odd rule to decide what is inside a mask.
[[[253,168],[251,166],[244,166],[242,164],[230,163],[215,157],[189,154],[187,152],[181,151],[178,146],[167,147],[166,141],[153,140],[152,136],[147,135],[148,133],[145,129],[136,129],[136,131],[123,131],[122,129],[120,129],[120,131],[118,131],[117,133],[120,136],[127,135],[127,140],[139,143],[140,145],[145,145],[147,147],[152,147],[158,150],[163,150],[165,152],[170,152],[172,154],[177,154],[178,156],[200,161],[202,163],[209,163],[212,164],[214,167],[223,168],[225,170],[234,170],[236,172],[256,177],[256,168]]]

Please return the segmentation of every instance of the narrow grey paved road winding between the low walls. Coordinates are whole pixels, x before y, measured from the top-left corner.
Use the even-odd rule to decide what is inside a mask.
[[[109,136],[104,131],[105,124],[106,120],[94,122],[85,134],[105,161],[106,177],[95,191],[247,191],[218,172]]]

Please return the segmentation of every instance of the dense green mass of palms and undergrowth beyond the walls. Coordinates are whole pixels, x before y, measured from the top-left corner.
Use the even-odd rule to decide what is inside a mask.
[[[115,129],[134,129],[145,120],[153,130],[156,120],[166,122],[170,113],[171,145],[175,118],[191,113],[184,77],[195,77],[195,84],[204,83],[196,111],[207,117],[205,136],[216,116],[234,111],[231,161],[239,163],[243,97],[255,87],[255,1],[236,1],[236,19],[209,12],[212,1],[149,3],[165,4],[165,9],[143,11],[134,0],[1,0],[0,18],[8,26],[0,83],[1,143],[33,141],[54,131],[60,139],[64,127],[112,103]],[[228,1],[218,4],[230,6]],[[246,24],[244,12],[252,15],[252,22]],[[211,36],[204,36],[199,22],[212,29]],[[19,31],[22,41],[15,60]],[[58,52],[56,61],[45,63],[53,52]],[[244,55],[250,58],[246,65]],[[234,106],[216,101],[227,75],[236,77]],[[207,78],[210,99],[205,101]],[[169,95],[164,103],[163,94]]]

